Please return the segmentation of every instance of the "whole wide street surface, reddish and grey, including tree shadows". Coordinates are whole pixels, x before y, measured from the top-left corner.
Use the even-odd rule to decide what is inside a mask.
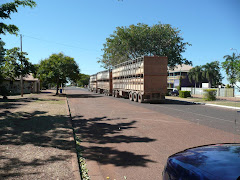
[[[233,134],[233,110],[173,101],[138,104],[78,88],[67,94],[92,179],[161,179],[175,152],[240,140]]]

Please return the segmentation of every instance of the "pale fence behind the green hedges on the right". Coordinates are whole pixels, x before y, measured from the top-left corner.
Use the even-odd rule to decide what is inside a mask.
[[[234,88],[209,88],[217,90],[217,97],[234,97]],[[203,88],[181,87],[182,91],[191,91],[192,95],[203,95]]]

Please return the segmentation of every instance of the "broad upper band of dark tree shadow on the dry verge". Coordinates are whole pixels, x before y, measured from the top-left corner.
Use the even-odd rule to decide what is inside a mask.
[[[5,112],[0,118],[1,145],[32,144],[68,150],[70,141],[68,117],[45,115],[45,111]]]

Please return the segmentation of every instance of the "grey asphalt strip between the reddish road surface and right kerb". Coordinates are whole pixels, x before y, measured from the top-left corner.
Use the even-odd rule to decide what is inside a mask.
[[[71,88],[72,90],[76,88]],[[81,89],[88,92],[87,89]],[[98,94],[98,96],[104,96]],[[240,134],[240,111],[221,107],[168,100],[164,104],[135,103],[123,98],[108,97],[134,106],[147,108],[159,113],[206,125],[226,132]],[[235,122],[236,121],[236,122]]]

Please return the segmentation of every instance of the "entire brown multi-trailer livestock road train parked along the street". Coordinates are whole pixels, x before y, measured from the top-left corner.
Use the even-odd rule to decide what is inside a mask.
[[[90,77],[94,92],[125,97],[131,101],[159,101],[167,92],[167,57],[143,56]]]

